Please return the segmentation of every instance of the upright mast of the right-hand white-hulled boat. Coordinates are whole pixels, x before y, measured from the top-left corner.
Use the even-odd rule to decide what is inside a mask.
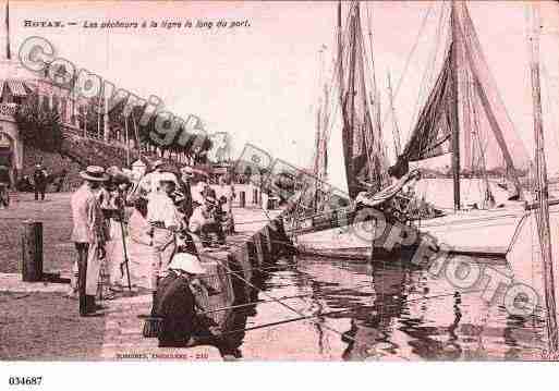
[[[458,24],[457,24],[457,3],[451,2],[450,11],[450,28],[452,32],[451,39],[451,72],[452,72],[452,180],[454,183],[454,210],[460,209],[460,130],[458,121]]]

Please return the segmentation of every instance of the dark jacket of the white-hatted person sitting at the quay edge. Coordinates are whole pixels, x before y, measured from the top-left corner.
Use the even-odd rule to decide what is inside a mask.
[[[170,271],[157,289],[151,316],[161,317],[159,346],[186,346],[195,329],[194,295],[185,277]]]

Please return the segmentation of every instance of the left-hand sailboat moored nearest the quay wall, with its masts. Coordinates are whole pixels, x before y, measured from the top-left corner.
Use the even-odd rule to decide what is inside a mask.
[[[365,197],[374,203],[375,208],[389,222],[405,222],[409,199],[401,197],[401,190],[414,179],[414,172],[405,173],[396,183],[390,183],[380,125],[380,99],[376,87],[372,34],[369,32],[367,41],[363,34],[359,1],[349,4],[344,24],[342,4],[338,3],[337,40],[338,53],[332,77],[337,89],[325,88],[324,105],[317,113],[316,154],[312,170],[317,181],[306,197],[300,195],[297,206],[293,208],[290,231],[301,253],[368,259],[375,248],[376,257],[382,257],[401,248],[397,246],[385,251],[384,242],[390,232],[390,224],[376,241],[373,241],[376,229],[369,229],[366,224],[355,234],[353,229],[355,220],[360,218],[360,199]],[[333,94],[335,90],[339,95],[329,99],[328,91]],[[328,102],[337,102],[341,114],[342,159],[347,181],[347,190],[341,192],[341,198],[345,197],[343,203],[339,203],[340,196],[331,197],[336,192],[326,184],[329,160],[327,144],[329,131],[336,123],[329,117]],[[349,206],[341,207],[343,204]]]

